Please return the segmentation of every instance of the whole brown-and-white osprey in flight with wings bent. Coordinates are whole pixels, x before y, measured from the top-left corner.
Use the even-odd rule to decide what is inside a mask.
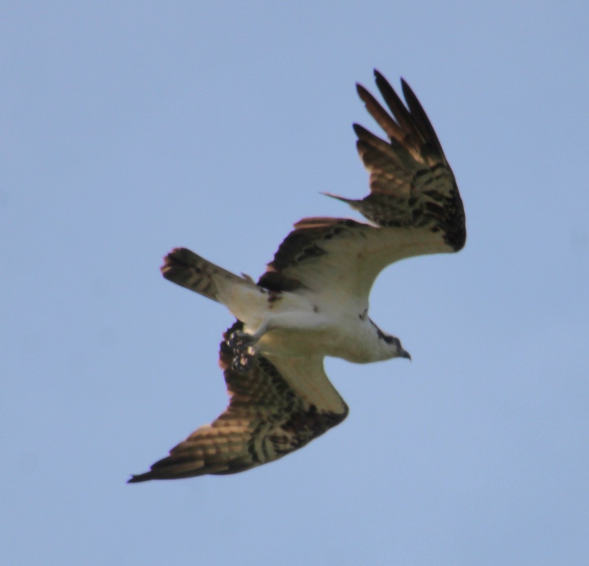
[[[398,338],[368,317],[368,296],[387,265],[455,252],[466,239],[464,208],[434,128],[401,79],[406,106],[375,71],[390,113],[361,85],[366,109],[385,131],[358,124],[356,147],[370,194],[348,203],[370,224],[303,218],[257,284],[186,248],[164,258],[163,276],[225,305],[237,321],[223,335],[219,365],[229,406],[130,483],[234,474],[297,450],[346,418],[323,358],[365,364],[409,358]]]

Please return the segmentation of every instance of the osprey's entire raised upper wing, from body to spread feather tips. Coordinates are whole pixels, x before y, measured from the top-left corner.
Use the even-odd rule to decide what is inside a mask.
[[[464,246],[462,200],[428,116],[405,81],[407,106],[378,71],[375,76],[392,115],[361,85],[358,94],[389,141],[354,125],[360,158],[370,172],[370,194],[360,200],[329,196],[347,202],[376,226],[304,218],[280,245],[260,285],[275,291],[329,289],[364,304],[386,265]]]

